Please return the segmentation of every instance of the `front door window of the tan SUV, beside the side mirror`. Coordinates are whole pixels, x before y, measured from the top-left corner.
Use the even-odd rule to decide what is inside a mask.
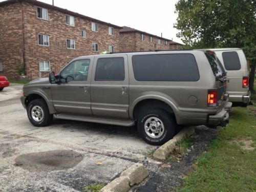
[[[71,62],[60,73],[61,82],[87,81],[90,59],[81,59]]]

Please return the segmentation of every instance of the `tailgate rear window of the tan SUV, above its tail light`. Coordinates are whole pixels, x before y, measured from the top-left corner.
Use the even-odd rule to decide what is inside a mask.
[[[213,53],[205,53],[209,63],[210,63],[210,67],[212,72],[214,73],[214,76],[216,79],[219,79],[222,77],[222,75],[225,73],[222,69],[222,67],[220,66],[221,63],[219,63],[217,60],[218,58],[216,57],[215,54]]]

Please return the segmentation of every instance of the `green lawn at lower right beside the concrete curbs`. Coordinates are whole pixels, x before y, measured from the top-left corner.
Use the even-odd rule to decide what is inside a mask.
[[[253,95],[255,98],[255,94]],[[255,100],[254,100],[255,102]],[[256,144],[256,104],[233,108],[229,124],[221,129],[207,153],[195,162],[195,171],[178,191],[256,191],[256,150],[247,151],[243,141]]]

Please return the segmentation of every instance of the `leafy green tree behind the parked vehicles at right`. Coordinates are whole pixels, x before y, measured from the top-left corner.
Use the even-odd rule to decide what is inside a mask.
[[[256,66],[255,0],[179,0],[175,28],[185,48],[242,48],[250,60],[249,88]]]

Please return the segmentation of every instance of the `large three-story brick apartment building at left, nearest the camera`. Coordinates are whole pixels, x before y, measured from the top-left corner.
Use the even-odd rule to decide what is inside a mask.
[[[81,55],[119,51],[121,28],[35,0],[0,3],[0,74],[30,79],[58,72]]]

